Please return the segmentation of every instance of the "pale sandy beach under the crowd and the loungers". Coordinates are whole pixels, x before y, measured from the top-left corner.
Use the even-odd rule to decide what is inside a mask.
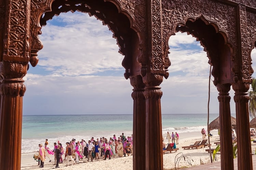
[[[217,131],[211,131],[213,134],[213,137],[210,137],[210,142],[211,142],[211,148],[215,148],[216,145],[214,142],[219,140]],[[168,143],[166,139],[166,134],[163,134],[163,137],[165,139],[166,145]],[[179,154],[177,157],[181,156],[182,154],[184,156],[190,157],[190,162],[192,166],[197,166],[200,165],[200,162],[203,162],[203,164],[210,163],[210,154],[205,151],[205,149],[209,149],[209,147],[206,148],[198,148],[198,149],[182,149],[183,146],[189,146],[193,145],[195,141],[202,140],[202,136],[200,133],[193,132],[193,133],[181,133],[180,134],[180,140],[179,140],[179,145],[176,145],[179,150],[177,152],[166,152],[163,155],[163,168],[165,170],[172,169],[175,167],[175,156]],[[209,142],[207,142],[209,143]],[[252,144],[252,147],[255,144]],[[256,145],[254,146],[254,151],[255,151]],[[181,154],[182,153],[182,154]],[[221,160],[221,154],[217,153],[217,159],[218,161]],[[28,154],[28,155],[22,155],[22,170],[29,170],[29,169],[54,169],[55,166],[54,164],[54,156],[51,157],[52,162],[49,163],[48,158],[46,158],[46,161],[44,163],[44,168],[39,168],[38,163],[33,159],[33,154]],[[64,156],[63,156],[64,159]],[[193,159],[193,160],[192,160]],[[116,156],[115,158],[111,158],[110,160],[103,160],[102,157],[98,160],[94,160],[93,162],[87,162],[87,158],[80,160],[79,163],[72,165],[71,162],[69,162],[69,166],[66,167],[66,161],[64,160],[62,164],[59,164],[58,169],[60,170],[77,170],[77,169],[90,169],[90,170],[98,170],[101,169],[102,166],[107,169],[115,169],[113,167],[126,167],[126,169],[132,169],[132,155],[126,156],[126,157],[118,157]],[[179,162],[179,168],[181,167],[191,167],[191,165],[188,164],[187,159],[180,159]],[[177,168],[177,165],[176,165]]]

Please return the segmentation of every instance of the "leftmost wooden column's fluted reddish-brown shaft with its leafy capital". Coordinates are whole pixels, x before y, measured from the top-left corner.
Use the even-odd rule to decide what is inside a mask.
[[[21,159],[22,101],[26,87],[24,81],[17,78],[18,73],[15,76],[15,72],[26,72],[27,63],[1,62],[1,67],[5,69],[4,73],[10,73],[12,77],[4,78],[0,83],[0,167],[4,170],[18,170]]]

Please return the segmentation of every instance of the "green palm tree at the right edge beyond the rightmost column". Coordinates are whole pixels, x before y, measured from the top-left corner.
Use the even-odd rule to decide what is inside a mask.
[[[249,95],[249,115],[251,118],[256,117],[256,79],[253,78],[252,84],[251,84],[251,90],[248,91]]]

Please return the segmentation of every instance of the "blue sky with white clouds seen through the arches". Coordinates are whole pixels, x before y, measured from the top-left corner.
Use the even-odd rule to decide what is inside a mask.
[[[54,16],[41,31],[38,65],[30,65],[24,77],[23,115],[132,114],[133,87],[124,78],[124,56],[107,26],[94,16],[68,12]],[[170,75],[160,85],[162,114],[207,114],[206,52],[196,38],[180,32],[170,37],[169,46]],[[210,89],[210,114],[218,114],[212,81]],[[232,88],[229,93],[234,114]]]

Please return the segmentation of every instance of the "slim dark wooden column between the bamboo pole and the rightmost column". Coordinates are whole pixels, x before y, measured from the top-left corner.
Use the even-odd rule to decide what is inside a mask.
[[[218,84],[219,123],[221,139],[221,169],[233,170],[233,147],[230,115],[230,84]]]

